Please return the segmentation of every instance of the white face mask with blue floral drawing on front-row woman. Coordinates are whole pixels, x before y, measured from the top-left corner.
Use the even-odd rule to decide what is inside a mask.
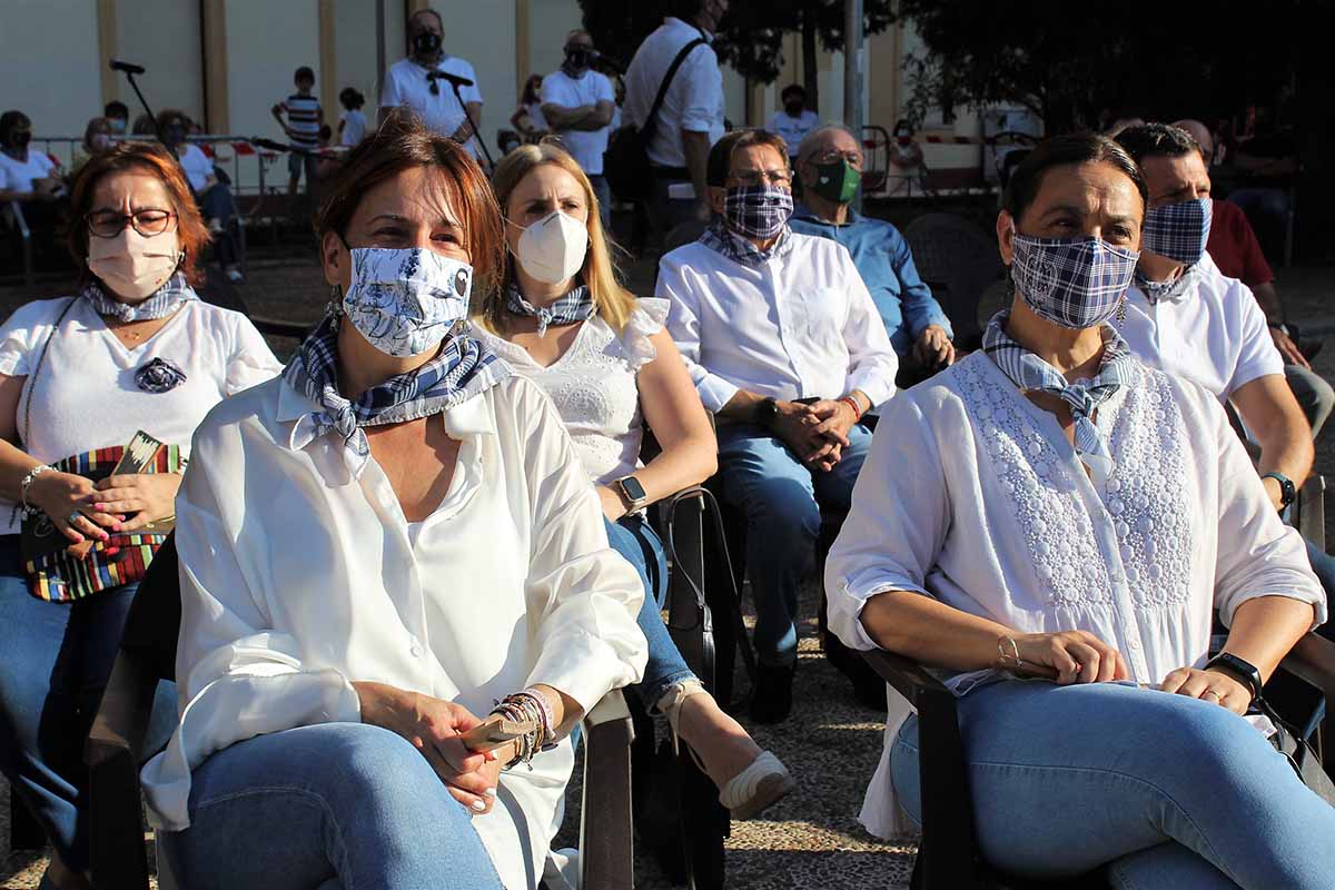
[[[473,267],[421,247],[354,247],[347,320],[380,352],[421,355],[469,316]]]

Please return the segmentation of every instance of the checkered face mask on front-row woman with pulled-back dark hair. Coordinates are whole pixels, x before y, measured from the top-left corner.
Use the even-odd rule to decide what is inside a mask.
[[[1025,306],[1053,324],[1097,327],[1117,312],[1139,251],[1101,238],[1029,238],[1015,234],[1011,278]]]

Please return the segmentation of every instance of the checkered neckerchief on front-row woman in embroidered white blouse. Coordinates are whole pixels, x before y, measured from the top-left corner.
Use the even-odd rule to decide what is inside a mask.
[[[1096,482],[1105,482],[1112,474],[1112,454],[1107,438],[1093,422],[1099,406],[1117,390],[1136,380],[1136,358],[1121,335],[1109,324],[1103,334],[1103,360],[1099,374],[1088,380],[1067,380],[1055,367],[1020,346],[1005,332],[1011,312],[1003,310],[988,322],[983,332],[983,351],[996,363],[1021,392],[1039,390],[1059,396],[1071,406],[1076,424],[1076,456],[1089,468]]]

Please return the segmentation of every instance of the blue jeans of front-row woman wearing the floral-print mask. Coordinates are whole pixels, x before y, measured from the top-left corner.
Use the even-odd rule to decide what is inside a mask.
[[[366,723],[218,751],[191,774],[190,827],[158,843],[191,890],[501,890],[469,811],[426,758]]]

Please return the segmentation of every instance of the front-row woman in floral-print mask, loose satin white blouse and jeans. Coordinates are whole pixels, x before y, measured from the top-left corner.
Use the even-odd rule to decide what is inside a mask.
[[[391,119],[318,227],[330,315],[204,420],[176,500],[151,817],[190,887],[531,890],[643,590],[542,390],[467,332],[503,244],[467,152]],[[465,749],[502,714],[531,729]]]

